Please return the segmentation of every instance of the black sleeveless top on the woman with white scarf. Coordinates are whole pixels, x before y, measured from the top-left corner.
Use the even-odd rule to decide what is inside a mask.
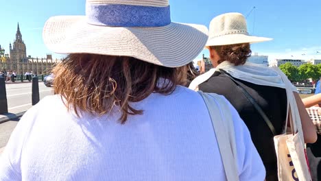
[[[273,86],[261,86],[236,79],[246,89],[268,116],[276,134],[281,134],[287,113],[287,96],[285,89]],[[215,72],[209,80],[198,86],[204,93],[224,95],[235,107],[241,119],[248,126],[252,141],[259,152],[267,173],[267,180],[277,180],[276,154],[270,128],[251,102],[237,88],[235,82],[224,74]],[[269,179],[270,178],[270,179]]]

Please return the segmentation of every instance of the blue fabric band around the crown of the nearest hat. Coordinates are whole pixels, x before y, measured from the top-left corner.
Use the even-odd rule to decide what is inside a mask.
[[[87,4],[87,23],[111,27],[162,27],[171,23],[169,5]]]

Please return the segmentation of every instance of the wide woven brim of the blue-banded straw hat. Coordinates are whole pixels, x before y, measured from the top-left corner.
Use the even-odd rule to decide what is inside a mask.
[[[181,67],[204,49],[203,25],[171,23],[165,27],[89,25],[85,16],[54,16],[43,29],[48,49],[56,53],[130,56],[164,67]]]

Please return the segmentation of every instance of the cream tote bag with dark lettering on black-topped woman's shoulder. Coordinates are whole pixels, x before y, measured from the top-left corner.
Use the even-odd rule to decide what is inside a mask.
[[[300,114],[296,99],[292,92],[292,84],[287,76],[278,68],[287,91],[287,119],[291,125],[291,134],[287,134],[287,121],[283,134],[274,136],[276,157],[278,160],[278,180],[280,181],[310,181],[311,175],[305,152],[305,142],[302,132]],[[289,118],[289,119],[288,119]]]

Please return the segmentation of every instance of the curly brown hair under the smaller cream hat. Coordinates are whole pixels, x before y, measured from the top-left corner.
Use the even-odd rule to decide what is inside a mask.
[[[220,60],[217,61],[218,64],[227,60],[228,62],[235,64],[235,66],[245,64],[252,53],[250,43],[215,46],[210,47],[210,49],[215,49],[219,55]]]

